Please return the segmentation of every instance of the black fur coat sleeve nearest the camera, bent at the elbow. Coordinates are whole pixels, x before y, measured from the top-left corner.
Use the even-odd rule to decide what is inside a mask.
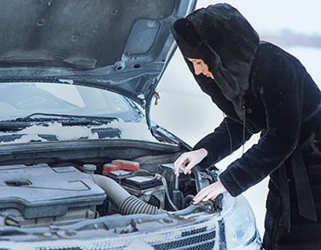
[[[292,154],[300,137],[302,87],[297,68],[282,55],[272,56],[270,62],[261,63],[258,68],[253,81],[265,106],[267,129],[257,145],[220,174],[232,196],[275,171]]]

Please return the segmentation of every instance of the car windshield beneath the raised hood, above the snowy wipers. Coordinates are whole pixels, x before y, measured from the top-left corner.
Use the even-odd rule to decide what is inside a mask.
[[[1,83],[0,120],[42,112],[117,117],[136,121],[142,116],[126,97],[94,87],[59,83]]]

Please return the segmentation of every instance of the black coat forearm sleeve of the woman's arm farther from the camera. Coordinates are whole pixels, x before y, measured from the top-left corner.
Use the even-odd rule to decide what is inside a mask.
[[[205,148],[208,156],[199,165],[202,168],[219,162],[227,155],[232,154],[251,137],[251,133],[246,129],[243,135],[243,124],[226,117],[212,133],[203,137],[193,149]]]

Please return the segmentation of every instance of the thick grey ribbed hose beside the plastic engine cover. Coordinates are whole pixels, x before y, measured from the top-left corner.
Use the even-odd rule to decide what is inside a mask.
[[[144,201],[138,199],[136,196],[131,196],[128,191],[121,187],[115,180],[107,176],[99,174],[86,175],[105,191],[107,199],[118,208],[122,215],[136,213],[160,214],[166,212],[152,204],[144,203]]]

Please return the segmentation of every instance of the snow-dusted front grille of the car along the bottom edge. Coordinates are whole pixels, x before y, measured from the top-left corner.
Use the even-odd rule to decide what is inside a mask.
[[[191,221],[192,223],[178,223],[177,226],[167,228],[163,223],[173,221],[160,221],[164,227],[160,229],[142,231],[141,233],[120,233],[112,230],[106,231],[103,237],[94,238],[75,238],[34,241],[18,243],[16,248],[8,249],[28,249],[34,250],[128,250],[128,249],[156,249],[156,250],[210,250],[226,249],[224,221],[218,214],[208,214],[201,221]],[[191,218],[186,218],[190,220]],[[176,220],[174,220],[176,221]],[[176,221],[177,222],[177,221]],[[176,223],[175,222],[175,223]],[[154,225],[152,224],[152,227]],[[144,223],[142,224],[144,228]],[[139,227],[138,227],[139,228]],[[111,233],[111,235],[110,235]],[[71,240],[71,241],[70,241]],[[4,244],[4,249],[6,246]],[[21,245],[20,245],[21,244]],[[27,245],[26,245],[27,244]],[[23,247],[20,247],[22,246]]]

